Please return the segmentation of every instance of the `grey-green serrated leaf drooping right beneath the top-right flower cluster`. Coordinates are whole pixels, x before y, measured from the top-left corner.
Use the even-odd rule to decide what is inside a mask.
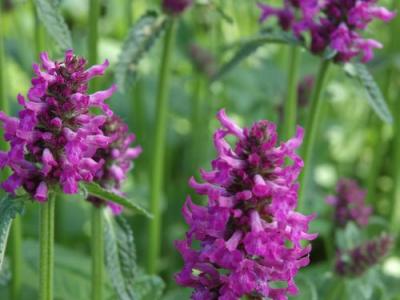
[[[353,64],[353,66],[356,71],[356,77],[364,86],[367,92],[369,105],[376,112],[379,118],[382,119],[382,121],[392,123],[393,117],[385,102],[382,91],[380,90],[372,75],[369,73],[367,67],[361,63]]]

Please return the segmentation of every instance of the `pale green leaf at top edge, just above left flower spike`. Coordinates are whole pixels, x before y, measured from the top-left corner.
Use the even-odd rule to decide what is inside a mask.
[[[53,1],[36,0],[39,19],[44,24],[49,35],[57,42],[62,50],[72,48],[71,33],[62,15],[58,12]]]

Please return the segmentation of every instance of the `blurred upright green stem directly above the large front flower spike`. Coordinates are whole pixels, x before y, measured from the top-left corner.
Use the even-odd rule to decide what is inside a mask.
[[[290,49],[289,80],[287,99],[284,107],[284,138],[291,138],[296,130],[297,123],[297,82],[300,67],[300,50],[293,46]]]

